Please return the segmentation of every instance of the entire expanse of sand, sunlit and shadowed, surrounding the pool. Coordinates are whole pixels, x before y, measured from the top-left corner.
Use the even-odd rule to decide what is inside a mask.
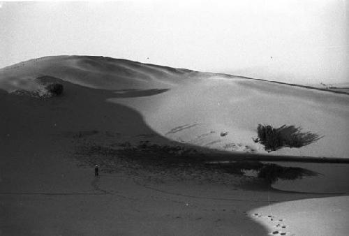
[[[42,75],[61,79],[64,94],[13,93],[42,89],[35,80]],[[348,158],[345,94],[80,56],[3,68],[0,88],[1,235],[272,233],[255,212],[287,219],[288,232],[295,235],[345,235],[348,230],[343,221],[347,196],[323,194],[320,187],[314,193],[287,186],[278,191],[255,177],[164,168],[158,159],[139,162],[151,159],[148,149],[126,157],[112,151],[124,142],[149,141],[200,152],[220,149],[232,159],[237,154]],[[251,139],[258,123],[295,124],[324,138],[268,154]],[[96,163],[101,164],[98,178]],[[329,168],[324,165],[324,172]],[[348,174],[337,178],[343,181]]]

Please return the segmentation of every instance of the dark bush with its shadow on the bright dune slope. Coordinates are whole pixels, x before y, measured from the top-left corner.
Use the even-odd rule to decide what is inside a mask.
[[[258,124],[257,127],[259,142],[265,145],[265,150],[268,152],[276,151],[282,147],[303,147],[322,138],[316,133],[302,133],[301,131],[301,127],[286,126],[285,124],[279,128],[262,124]]]

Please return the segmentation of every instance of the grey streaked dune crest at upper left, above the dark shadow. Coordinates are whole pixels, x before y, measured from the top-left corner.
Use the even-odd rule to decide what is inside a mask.
[[[162,76],[164,74],[170,76]],[[30,79],[39,75],[51,75],[97,89],[152,89],[180,80],[183,78],[181,74],[181,71],[164,73],[163,68],[108,57],[43,57],[1,69],[1,89],[26,89],[22,84],[30,83]]]

